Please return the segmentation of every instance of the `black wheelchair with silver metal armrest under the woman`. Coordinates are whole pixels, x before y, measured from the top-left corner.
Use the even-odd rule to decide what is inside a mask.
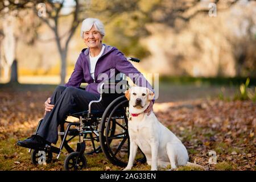
[[[127,57],[127,60],[139,62],[139,59]],[[49,146],[36,150],[30,149],[33,164],[50,163],[52,153],[61,155],[63,148],[69,153],[64,160],[64,170],[77,171],[87,167],[85,155],[103,152],[110,163],[119,167],[126,167],[129,159],[130,139],[128,133],[129,101],[123,94],[129,84],[127,77],[122,74],[120,80],[108,80],[101,84],[100,99],[91,101],[89,109],[73,113],[59,126],[58,135],[61,138],[60,147]],[[121,92],[117,92],[117,89]],[[101,102],[105,110],[92,110],[94,103]],[[41,119],[36,127],[37,133]],[[76,144],[76,147],[74,146]],[[145,163],[146,156],[138,150],[135,158],[136,163]]]

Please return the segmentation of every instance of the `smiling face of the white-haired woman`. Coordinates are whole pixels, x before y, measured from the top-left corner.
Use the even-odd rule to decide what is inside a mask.
[[[101,40],[103,36],[97,31],[96,27],[93,25],[89,31],[83,33],[84,42],[89,48],[100,48]]]

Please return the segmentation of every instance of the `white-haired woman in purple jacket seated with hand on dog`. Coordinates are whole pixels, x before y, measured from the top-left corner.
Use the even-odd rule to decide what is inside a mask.
[[[126,60],[122,52],[115,47],[102,44],[104,35],[104,25],[100,20],[87,18],[82,22],[81,38],[88,48],[82,49],[67,84],[57,86],[52,97],[45,102],[45,114],[38,133],[19,141],[19,146],[32,148],[44,147],[46,143],[56,144],[57,127],[65,121],[67,114],[88,110],[89,102],[100,98],[97,88],[102,82],[102,78],[98,78],[101,73],[110,76],[110,72],[114,69],[115,72],[125,73],[130,77],[133,74],[132,80],[135,84],[147,86],[152,90],[146,78]],[[79,89],[82,82],[88,83],[85,90]],[[154,102],[151,101],[145,112],[150,114],[153,104]],[[97,103],[92,105],[92,109],[104,110],[105,108],[101,103]]]

